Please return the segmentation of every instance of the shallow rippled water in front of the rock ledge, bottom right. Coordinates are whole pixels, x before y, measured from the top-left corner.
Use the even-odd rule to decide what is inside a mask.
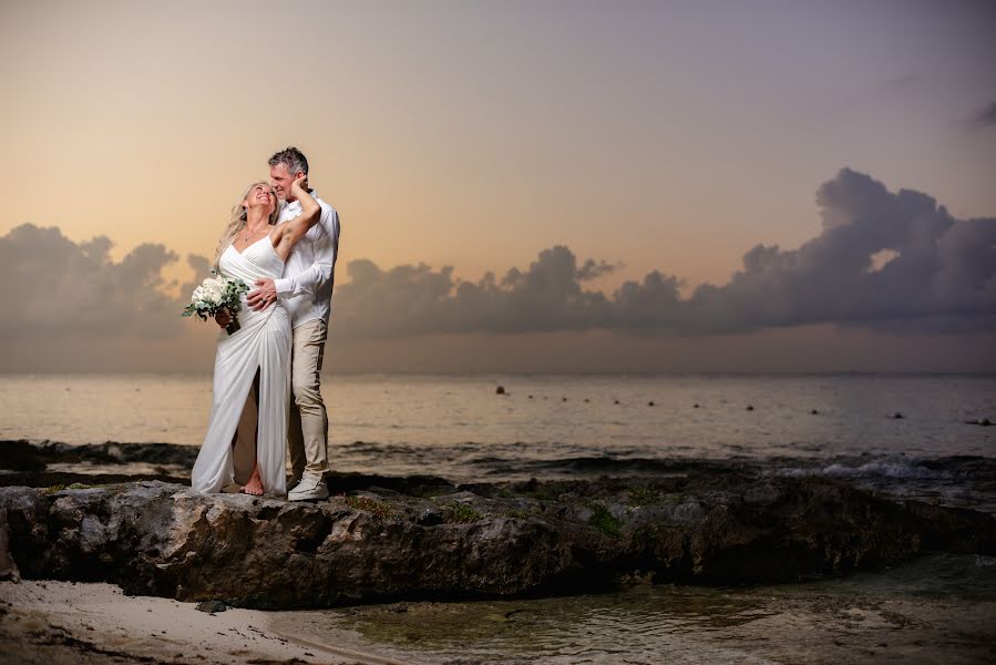
[[[280,613],[275,627],[409,663],[992,663],[996,560],[937,554],[805,584]]]

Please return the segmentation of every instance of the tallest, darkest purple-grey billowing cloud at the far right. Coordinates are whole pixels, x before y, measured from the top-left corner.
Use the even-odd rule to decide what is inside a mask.
[[[823,232],[794,250],[758,245],[721,288],[700,287],[689,305],[691,331],[996,314],[996,218],[952,217],[920,192],[890,193],[850,170],[817,193]],[[882,266],[874,257],[894,258]],[[721,313],[722,318],[713,318]],[[923,320],[920,320],[923,319]]]

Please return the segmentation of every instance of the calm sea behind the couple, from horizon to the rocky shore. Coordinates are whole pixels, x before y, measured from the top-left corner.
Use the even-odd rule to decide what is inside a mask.
[[[199,446],[211,390],[209,376],[3,376],[0,438]],[[994,376],[367,375],[327,376],[322,393],[345,471],[430,464],[464,479],[482,463],[501,474],[507,461],[514,474],[530,462],[599,456],[996,452],[996,428],[966,424],[996,421]]]

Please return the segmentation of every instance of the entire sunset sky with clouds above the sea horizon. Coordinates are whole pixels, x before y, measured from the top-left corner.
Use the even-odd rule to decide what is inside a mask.
[[[174,316],[296,145],[341,371],[996,371],[996,3],[0,3],[0,371]]]

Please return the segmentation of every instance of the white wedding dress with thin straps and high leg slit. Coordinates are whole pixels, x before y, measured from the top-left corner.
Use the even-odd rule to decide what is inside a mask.
[[[264,236],[242,254],[229,245],[222,254],[218,268],[226,277],[240,278],[251,289],[261,277],[279,278],[284,262],[269,236]],[[278,303],[256,311],[246,304],[243,294],[237,318],[242,328],[230,336],[222,330],[218,336],[211,420],[194,463],[191,484],[197,492],[220,492],[236,481],[238,458],[248,460],[248,471],[256,459],[265,493],[283,497],[287,492],[285,450],[290,400],[290,315]],[[257,370],[259,400],[254,403],[251,391]],[[247,426],[243,411],[250,417],[257,407],[257,419]],[[240,420],[243,427],[239,427]],[[239,436],[233,446],[236,431]],[[248,479],[245,470],[242,475]]]

